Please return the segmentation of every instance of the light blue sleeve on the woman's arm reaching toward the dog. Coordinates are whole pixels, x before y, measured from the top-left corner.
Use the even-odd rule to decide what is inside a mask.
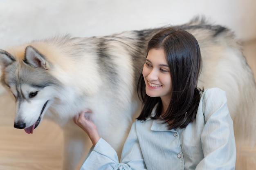
[[[104,139],[99,139],[88,155],[80,170],[146,170],[141,154],[135,124],[132,124],[130,133],[124,144],[121,163],[116,151]]]

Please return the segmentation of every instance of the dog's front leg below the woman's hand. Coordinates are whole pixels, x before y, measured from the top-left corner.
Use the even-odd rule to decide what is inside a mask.
[[[63,170],[76,170],[81,167],[88,150],[92,146],[89,137],[80,129],[64,130]]]

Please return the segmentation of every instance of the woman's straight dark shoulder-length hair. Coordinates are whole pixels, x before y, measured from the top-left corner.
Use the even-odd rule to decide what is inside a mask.
[[[144,104],[138,120],[160,119],[168,123],[168,129],[185,128],[192,122],[200,102],[200,89],[197,88],[201,71],[201,53],[195,37],[178,27],[165,28],[148,42],[148,50],[164,49],[171,73],[171,101],[166,113],[162,114],[160,97],[149,97],[145,91],[145,81],[141,73],[138,95]],[[151,115],[157,105],[155,115]]]

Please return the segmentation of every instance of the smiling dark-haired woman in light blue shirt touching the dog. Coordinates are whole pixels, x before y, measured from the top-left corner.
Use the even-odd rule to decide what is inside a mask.
[[[139,81],[144,107],[124,144],[115,150],[85,118],[74,122],[88,133],[91,151],[81,170],[234,170],[236,145],[225,92],[196,88],[201,68],[197,40],[177,27],[148,43]]]

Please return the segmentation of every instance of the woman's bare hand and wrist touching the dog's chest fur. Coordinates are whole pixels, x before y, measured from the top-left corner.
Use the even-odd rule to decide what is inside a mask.
[[[80,114],[73,118],[73,121],[88,134],[93,146],[95,146],[100,139],[97,126],[85,115],[86,113],[91,112],[91,110],[83,110]]]

